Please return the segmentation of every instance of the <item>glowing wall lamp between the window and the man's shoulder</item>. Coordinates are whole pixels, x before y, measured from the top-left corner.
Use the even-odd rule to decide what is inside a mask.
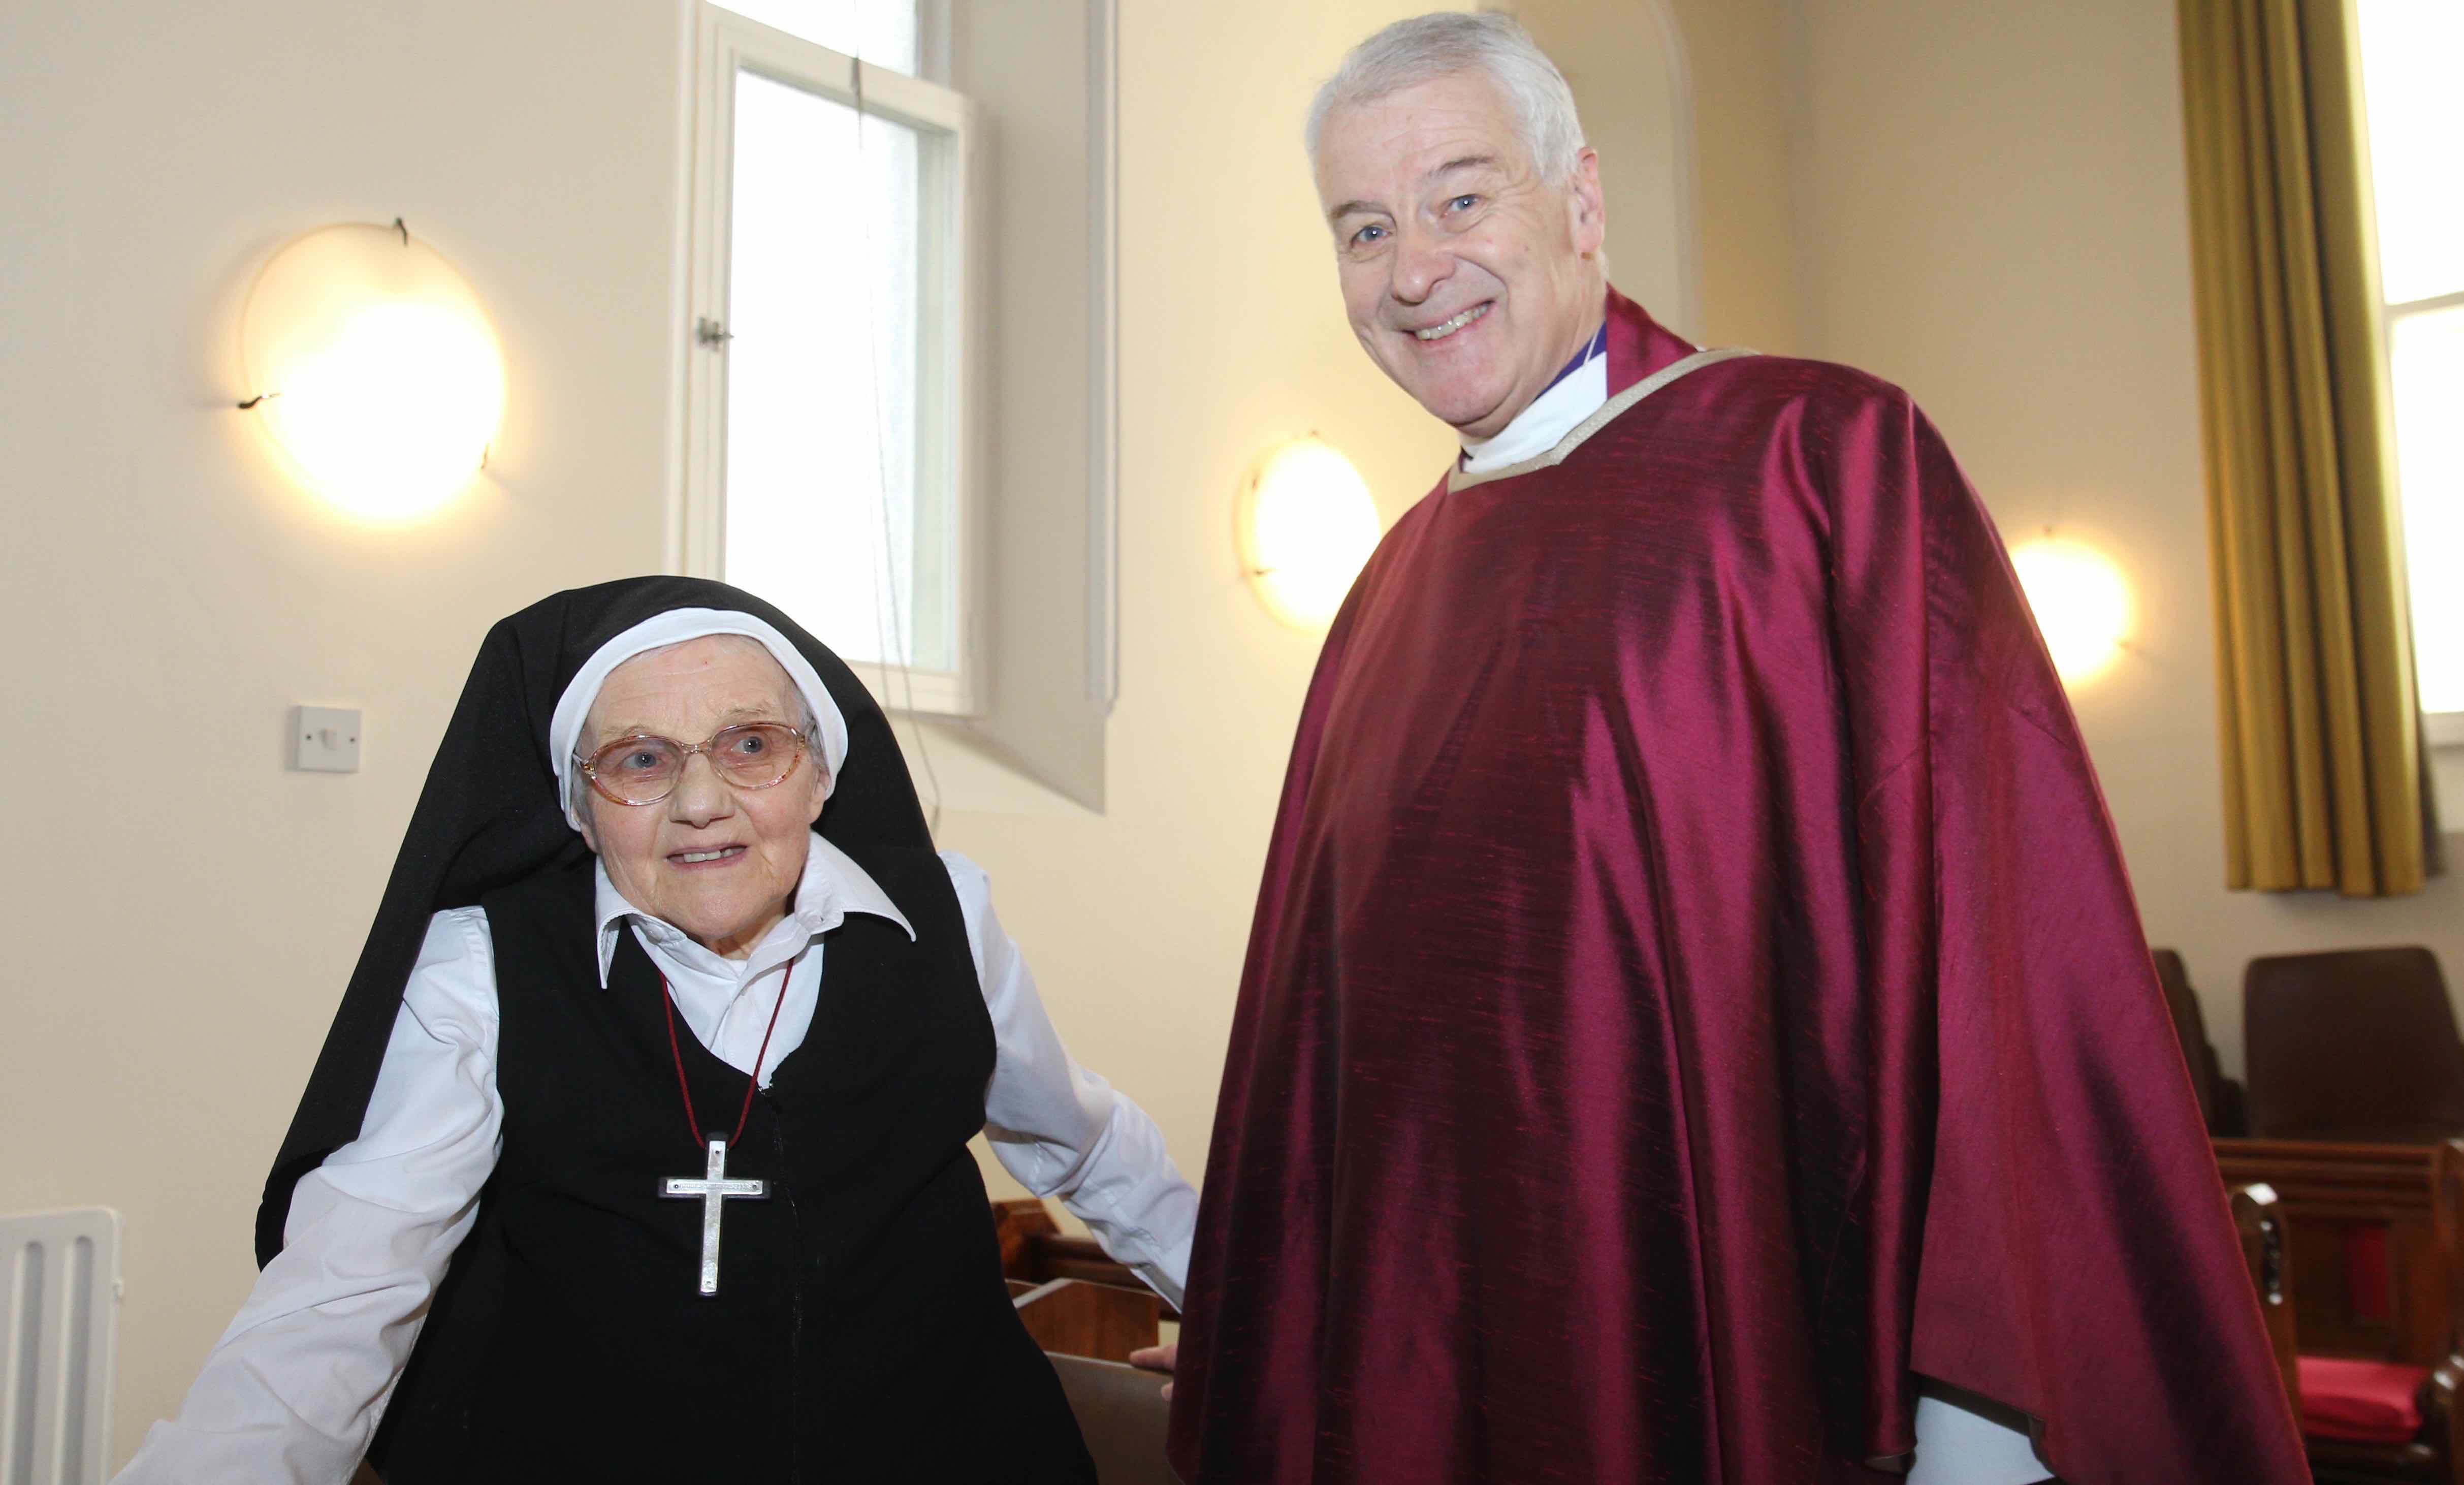
[[[1377,549],[1377,502],[1353,461],[1308,436],[1269,453],[1239,500],[1239,557],[1281,623],[1323,633]]]

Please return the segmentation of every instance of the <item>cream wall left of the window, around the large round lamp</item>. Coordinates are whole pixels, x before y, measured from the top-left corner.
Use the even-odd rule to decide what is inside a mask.
[[[648,571],[668,500],[673,0],[0,10],[0,1212],[126,1214],[113,1458],[251,1278],[264,1165],[490,621]],[[254,268],[404,217],[495,313],[490,473],[377,532],[239,396]],[[367,714],[286,773],[293,702]]]

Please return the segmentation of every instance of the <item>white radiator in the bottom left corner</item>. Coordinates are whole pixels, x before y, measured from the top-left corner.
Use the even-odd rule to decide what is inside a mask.
[[[0,1217],[0,1485],[101,1485],[121,1214]]]

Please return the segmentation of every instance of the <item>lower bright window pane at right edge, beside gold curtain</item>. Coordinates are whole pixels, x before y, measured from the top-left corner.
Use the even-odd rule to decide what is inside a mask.
[[[2388,352],[2422,712],[2464,712],[2464,305],[2397,318]]]

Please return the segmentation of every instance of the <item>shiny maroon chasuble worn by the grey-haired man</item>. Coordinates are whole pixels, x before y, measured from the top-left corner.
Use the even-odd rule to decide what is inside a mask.
[[[1611,399],[1690,350],[1609,296]],[[2104,800],[1932,424],[1740,357],[1557,453],[1441,483],[1326,638],[1180,1478],[1887,1480],[1924,1372],[2075,1485],[2309,1480]]]

